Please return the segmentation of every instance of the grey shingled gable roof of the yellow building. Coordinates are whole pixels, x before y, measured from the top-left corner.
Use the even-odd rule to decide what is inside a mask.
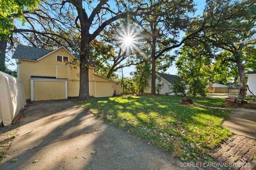
[[[65,47],[62,46],[60,48],[65,48]],[[60,49],[60,48],[58,48],[58,49]],[[58,49],[55,49],[55,50],[58,50]],[[37,61],[37,60],[40,60],[41,58],[43,58],[44,56],[54,52],[55,50],[36,48],[36,47],[25,46],[25,45],[20,45],[19,44],[17,46],[15,52],[13,53],[12,58],[13,59],[21,59],[21,60]],[[75,58],[77,58],[77,60],[80,60],[80,56],[79,55],[76,55],[76,54],[71,54],[71,55],[73,55]],[[90,58],[90,65],[94,66],[92,58]]]

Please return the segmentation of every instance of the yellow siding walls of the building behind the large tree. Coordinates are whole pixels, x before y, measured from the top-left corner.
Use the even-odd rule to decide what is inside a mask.
[[[57,77],[68,79],[68,97],[76,97],[79,95],[79,67],[75,69],[72,66],[67,67],[65,62],[57,62],[56,56],[68,56],[69,61],[74,60],[73,56],[69,52],[61,48],[45,56],[39,61],[27,61],[19,60],[19,79],[22,81],[26,99],[30,99],[30,77],[31,76],[43,76],[43,77]],[[66,66],[66,67],[65,67]],[[69,73],[68,73],[69,72]],[[56,75],[58,74],[58,75]],[[69,75],[69,76],[68,76]],[[95,86],[95,81],[98,82],[109,82],[107,83],[107,91],[105,84],[99,83]],[[90,82],[90,95],[95,97],[95,91],[97,96],[112,96],[114,92],[114,86],[111,87],[111,81],[102,78],[94,74],[93,68],[89,69],[89,82]],[[113,82],[114,84],[114,82]],[[102,87],[101,87],[102,86]],[[110,87],[109,87],[110,86]],[[97,89],[95,89],[95,87]]]

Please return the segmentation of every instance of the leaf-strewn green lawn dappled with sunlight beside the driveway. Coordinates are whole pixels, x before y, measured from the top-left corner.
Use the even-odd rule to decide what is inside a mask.
[[[230,111],[174,104],[179,100],[166,96],[122,96],[93,98],[81,105],[182,160],[202,157],[231,135],[221,125]],[[194,101],[209,104],[205,99]]]

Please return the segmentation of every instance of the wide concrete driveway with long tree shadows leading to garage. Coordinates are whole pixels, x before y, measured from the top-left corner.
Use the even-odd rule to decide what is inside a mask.
[[[72,101],[38,101],[25,114],[2,170],[184,169],[171,154],[102,122]],[[13,159],[18,161],[11,163]]]

